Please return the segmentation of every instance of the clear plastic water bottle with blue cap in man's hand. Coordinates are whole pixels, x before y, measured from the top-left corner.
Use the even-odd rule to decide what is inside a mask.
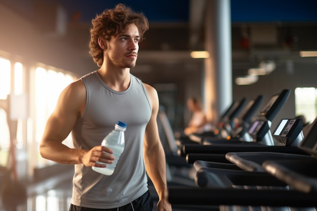
[[[109,147],[113,151],[114,160],[112,163],[97,162],[100,164],[106,164],[106,167],[93,166],[93,170],[104,175],[112,175],[115,165],[118,162],[124,148],[125,148],[125,131],[127,124],[122,121],[118,121],[115,124],[114,130],[111,131],[102,141],[101,145]],[[106,153],[106,152],[104,152]]]

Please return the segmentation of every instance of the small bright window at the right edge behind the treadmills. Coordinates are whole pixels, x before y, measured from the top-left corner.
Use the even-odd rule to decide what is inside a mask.
[[[295,89],[295,114],[304,115],[307,122],[316,118],[317,112],[317,89],[303,87]]]

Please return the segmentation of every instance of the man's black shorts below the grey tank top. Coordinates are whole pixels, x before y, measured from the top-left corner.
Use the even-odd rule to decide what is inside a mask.
[[[70,204],[69,211],[151,211],[153,208],[153,199],[149,191],[124,206],[111,209],[95,209]]]

